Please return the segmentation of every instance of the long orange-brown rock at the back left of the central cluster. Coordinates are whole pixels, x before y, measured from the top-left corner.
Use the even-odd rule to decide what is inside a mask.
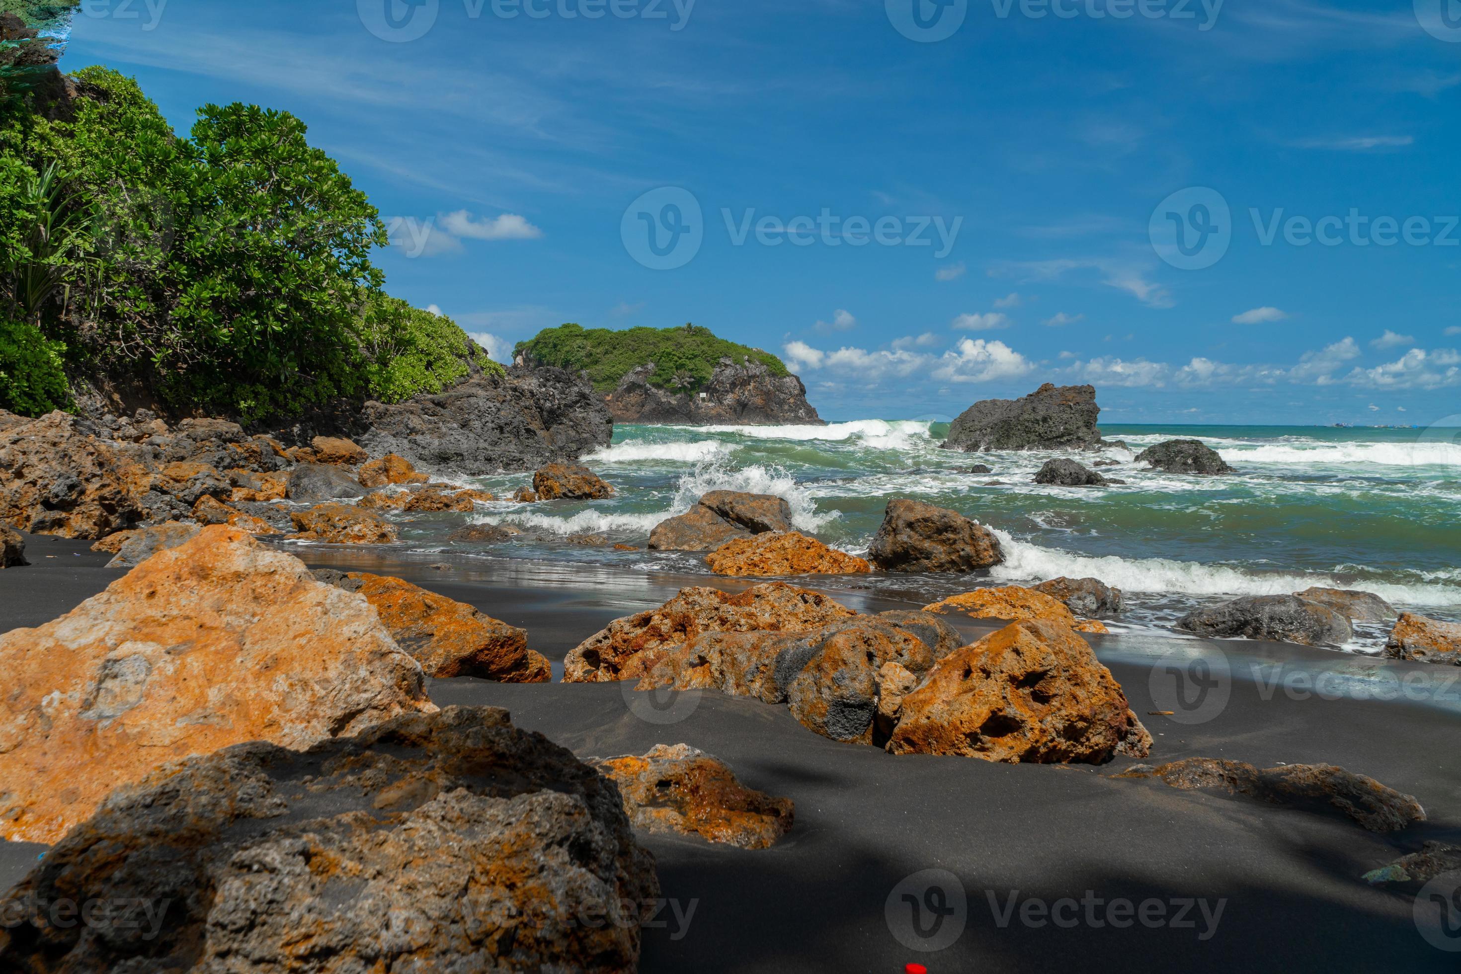
[[[818,591],[785,583],[730,594],[684,588],[657,609],[615,619],[564,659],[568,683],[638,679],[659,659],[703,632],[802,632],[856,615]],[[637,659],[644,656],[644,659]]]

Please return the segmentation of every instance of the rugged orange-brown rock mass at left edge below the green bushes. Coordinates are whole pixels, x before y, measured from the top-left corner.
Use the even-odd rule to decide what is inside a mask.
[[[149,517],[148,472],[56,412],[0,431],[0,523],[99,540]]]

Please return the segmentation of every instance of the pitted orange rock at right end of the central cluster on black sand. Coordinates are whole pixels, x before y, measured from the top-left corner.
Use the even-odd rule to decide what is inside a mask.
[[[1105,764],[1150,748],[1110,670],[1052,622],[1017,622],[945,657],[904,697],[888,742],[893,753],[1008,764]]]

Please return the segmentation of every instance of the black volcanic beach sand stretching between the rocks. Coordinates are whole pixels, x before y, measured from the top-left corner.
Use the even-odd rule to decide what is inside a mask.
[[[96,556],[75,558],[76,551],[85,548],[37,539],[28,546],[32,568],[0,572],[0,631],[45,622],[120,577],[95,564]],[[485,577],[470,565],[438,571],[416,561],[383,564],[370,552],[298,553],[320,567],[399,574],[469,602],[527,628],[533,647],[558,669],[568,648],[609,619],[659,605],[681,584],[706,583],[530,562],[506,572],[494,567],[494,577]],[[836,581],[815,587],[861,610],[907,607],[855,587],[839,590]],[[961,628],[974,638],[992,626]],[[1338,815],[1113,780],[1132,764],[1125,759],[1091,768],[894,758],[818,737],[785,708],[719,694],[465,679],[434,680],[431,695],[441,705],[506,707],[520,727],[581,756],[685,742],[725,759],[751,787],[796,800],[795,829],[766,851],[641,838],[659,860],[663,895],[679,910],[665,910],[666,926],[646,930],[643,971],[896,974],[909,962],[935,974],[1457,970],[1458,955],[1435,949],[1417,932],[1408,897],[1360,881],[1424,840],[1461,843],[1454,748],[1461,686],[1446,683],[1454,667],[1249,643],[1110,637],[1093,645],[1156,737],[1153,762],[1211,756],[1259,767],[1338,764],[1414,794],[1430,821],[1398,835],[1373,835]],[[1169,659],[1173,651],[1179,656]],[[1192,659],[1226,675],[1226,702],[1180,714],[1202,723],[1148,716],[1172,708],[1159,699],[1169,683],[1153,673]],[[1395,695],[1407,673],[1419,689],[1375,698]],[[1315,679],[1325,697],[1337,698],[1308,689]],[[41,851],[0,844],[0,888]],[[925,954],[900,942],[931,943],[913,933],[912,907],[901,894],[913,889],[922,900],[928,883],[906,881],[929,869],[957,881],[939,881],[954,914],[938,936],[951,945]],[[966,891],[963,910],[954,882]],[[1012,891],[1017,908],[1001,926]],[[1030,924],[1021,920],[1027,901],[1062,898],[1093,905],[1062,911],[1062,921],[1075,919],[1069,929],[1042,923],[1037,913],[1029,914]],[[1110,920],[1125,914],[1109,913],[1112,900],[1154,900],[1169,919],[1183,916],[1180,924],[1116,927]],[[1205,902],[1185,907],[1188,901]]]

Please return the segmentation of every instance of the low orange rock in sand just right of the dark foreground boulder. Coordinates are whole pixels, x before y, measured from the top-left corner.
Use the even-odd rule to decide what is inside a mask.
[[[770,848],[796,819],[795,802],[745,787],[720,759],[690,745],[590,764],[619,786],[624,812],[646,832]]]

